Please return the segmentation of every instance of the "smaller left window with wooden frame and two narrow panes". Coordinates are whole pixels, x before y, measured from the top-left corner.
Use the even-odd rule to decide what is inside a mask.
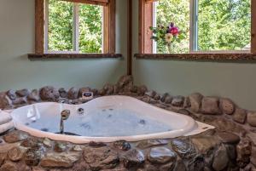
[[[113,54],[114,20],[115,0],[36,0],[36,53]]]

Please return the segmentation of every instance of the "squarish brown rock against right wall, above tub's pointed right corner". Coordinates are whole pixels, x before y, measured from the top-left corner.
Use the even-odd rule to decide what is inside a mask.
[[[218,103],[218,98],[216,97],[204,97],[201,101],[201,112],[210,115],[220,114]]]

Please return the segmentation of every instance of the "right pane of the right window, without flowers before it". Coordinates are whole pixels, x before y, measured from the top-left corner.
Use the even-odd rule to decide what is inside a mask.
[[[251,0],[198,0],[199,50],[247,50]]]

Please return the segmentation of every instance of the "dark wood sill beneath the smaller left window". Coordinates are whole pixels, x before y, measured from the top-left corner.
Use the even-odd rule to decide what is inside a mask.
[[[29,60],[79,60],[122,58],[122,54],[27,54]]]

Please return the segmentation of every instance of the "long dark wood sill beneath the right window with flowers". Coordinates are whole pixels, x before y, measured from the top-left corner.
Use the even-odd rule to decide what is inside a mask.
[[[256,54],[135,54],[149,60],[256,60]]]

